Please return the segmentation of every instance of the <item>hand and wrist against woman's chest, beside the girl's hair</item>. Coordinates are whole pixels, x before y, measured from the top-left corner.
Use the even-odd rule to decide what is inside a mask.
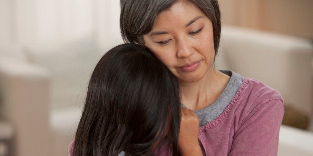
[[[199,119],[190,109],[181,109],[178,149],[181,156],[202,156],[198,142]]]

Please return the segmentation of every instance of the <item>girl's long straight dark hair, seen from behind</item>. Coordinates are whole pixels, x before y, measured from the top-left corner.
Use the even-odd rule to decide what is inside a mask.
[[[116,46],[91,75],[73,156],[153,155],[166,125],[166,142],[178,155],[179,100],[176,78],[149,49]]]

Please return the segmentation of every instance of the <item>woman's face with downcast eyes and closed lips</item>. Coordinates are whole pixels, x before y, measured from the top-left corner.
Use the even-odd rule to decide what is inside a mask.
[[[145,45],[179,82],[194,82],[213,70],[211,20],[196,6],[176,2],[156,18]]]

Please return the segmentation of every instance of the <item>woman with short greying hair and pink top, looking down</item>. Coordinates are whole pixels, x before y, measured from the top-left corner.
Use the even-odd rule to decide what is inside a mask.
[[[177,78],[181,102],[199,117],[198,137],[179,136],[181,153],[277,155],[280,94],[256,79],[214,68],[221,33],[217,0],[120,2],[124,41],[147,46],[165,64]],[[187,124],[180,127],[194,132]]]

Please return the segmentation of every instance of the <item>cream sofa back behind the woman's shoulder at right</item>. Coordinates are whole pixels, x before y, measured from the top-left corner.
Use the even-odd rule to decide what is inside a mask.
[[[309,39],[225,26],[216,66],[265,82],[313,117],[312,59]]]

